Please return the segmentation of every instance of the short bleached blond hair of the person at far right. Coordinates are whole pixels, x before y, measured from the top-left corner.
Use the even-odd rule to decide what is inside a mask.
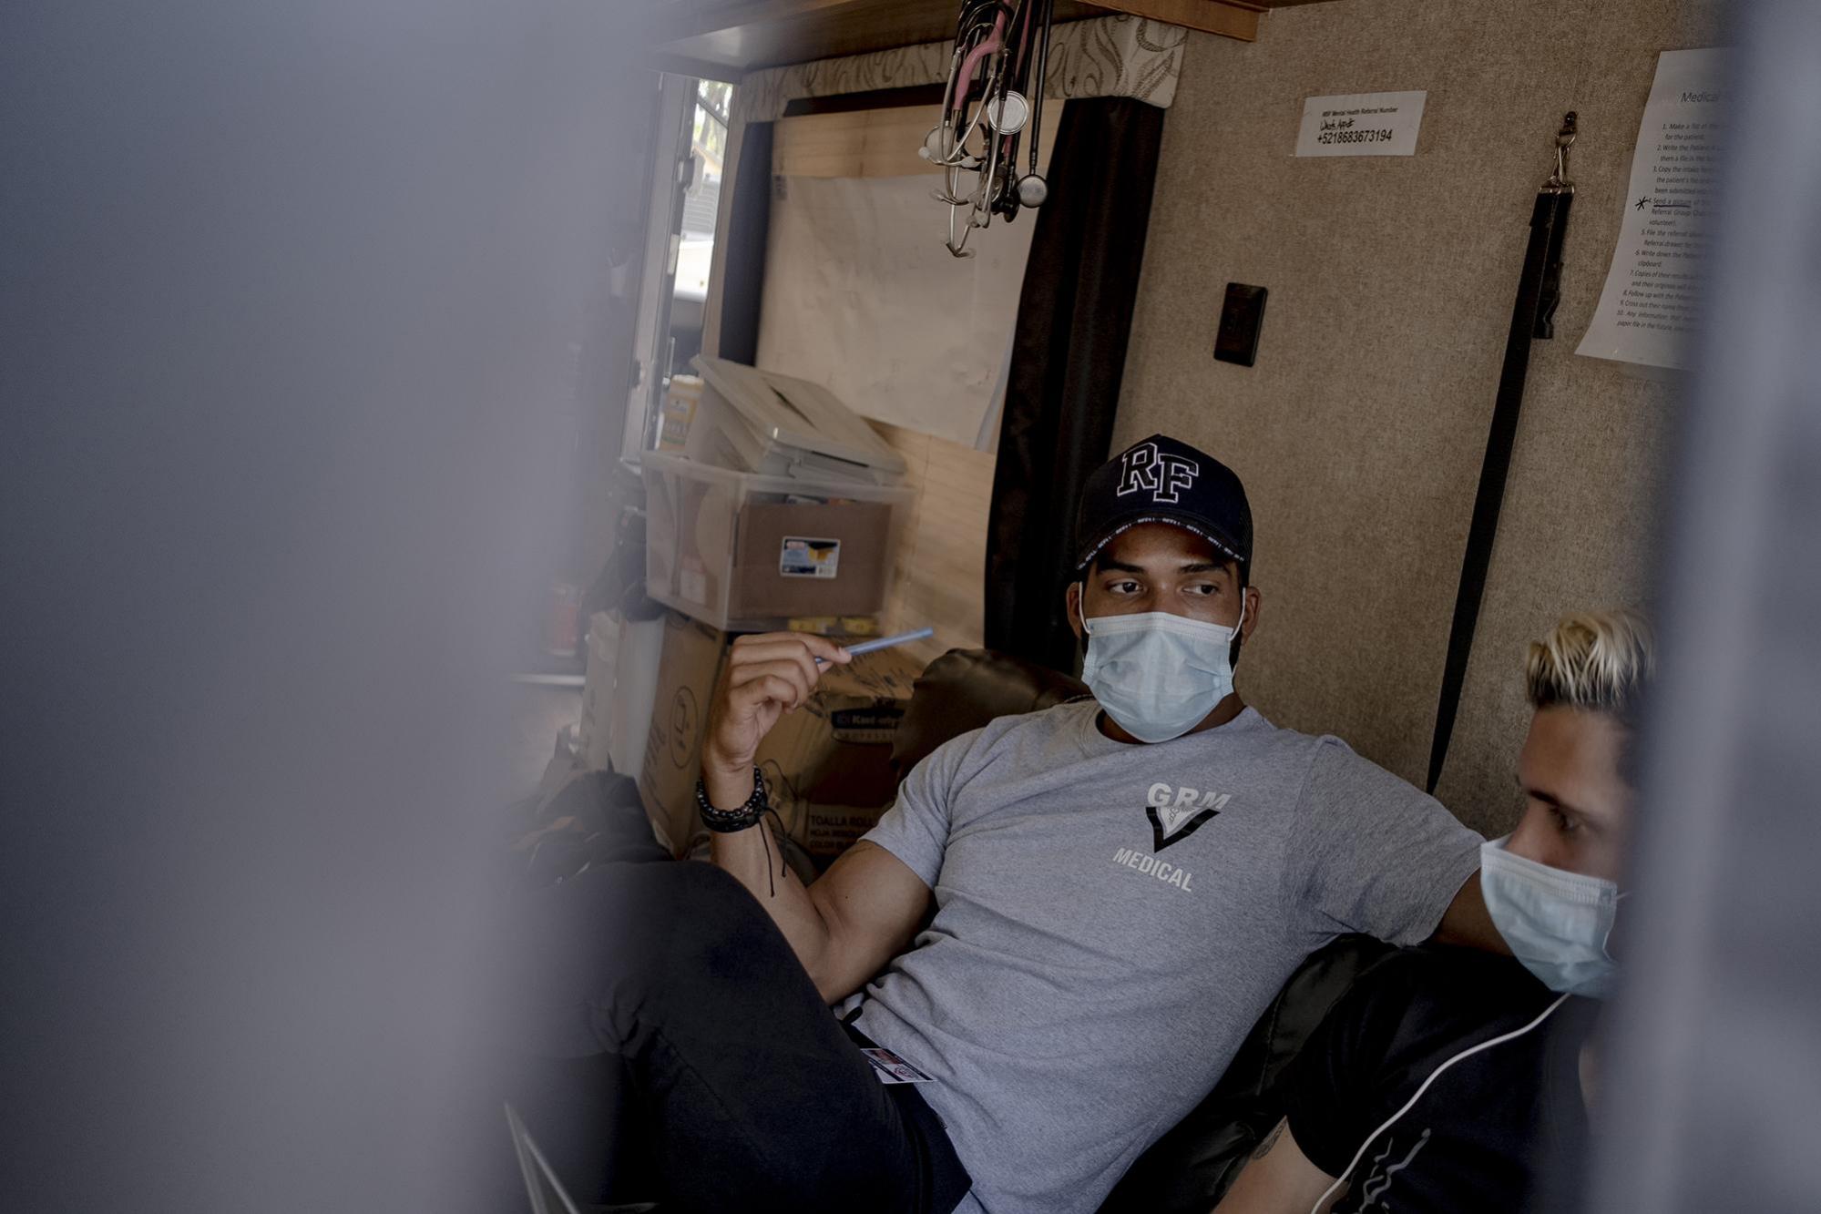
[[[1530,642],[1524,684],[1533,708],[1608,712],[1630,726],[1653,672],[1655,639],[1643,613],[1575,612]]]

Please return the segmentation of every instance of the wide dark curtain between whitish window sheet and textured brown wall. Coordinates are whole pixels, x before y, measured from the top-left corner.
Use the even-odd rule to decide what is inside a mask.
[[[985,637],[1054,670],[1074,668],[1074,504],[1113,442],[1162,137],[1156,106],[1071,100],[1034,217],[987,522]]]

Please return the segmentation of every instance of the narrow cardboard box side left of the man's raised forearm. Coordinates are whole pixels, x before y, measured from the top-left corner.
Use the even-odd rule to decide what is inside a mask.
[[[677,612],[665,615],[657,693],[639,766],[639,799],[652,819],[652,834],[672,855],[681,855],[699,828],[696,777],[701,775],[701,739],[725,659],[725,632]]]

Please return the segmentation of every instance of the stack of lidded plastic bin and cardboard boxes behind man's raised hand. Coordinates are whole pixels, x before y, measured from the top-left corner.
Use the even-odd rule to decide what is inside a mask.
[[[876,617],[912,499],[898,453],[827,389],[719,359],[696,368],[674,386],[663,450],[641,457],[646,593],[674,610],[637,781],[672,854],[699,830],[703,730],[732,635]],[[901,650],[858,657],[765,739],[772,804],[818,863],[890,803],[892,735],[920,672]]]

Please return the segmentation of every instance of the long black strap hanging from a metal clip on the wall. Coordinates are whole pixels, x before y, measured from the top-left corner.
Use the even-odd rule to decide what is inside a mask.
[[[1442,779],[1448,741],[1455,732],[1455,712],[1460,708],[1460,686],[1468,675],[1468,655],[1473,652],[1473,628],[1479,624],[1480,599],[1486,595],[1486,570],[1491,564],[1493,537],[1499,533],[1499,508],[1504,504],[1504,479],[1511,470],[1517,415],[1524,406],[1530,342],[1555,337],[1555,306],[1562,298],[1562,237],[1568,235],[1568,206],[1575,200],[1575,184],[1568,180],[1568,147],[1573,142],[1575,113],[1570,111],[1555,135],[1555,171],[1537,191],[1537,206],[1530,211],[1530,248],[1524,249],[1524,273],[1517,280],[1517,304],[1511,308],[1511,335],[1504,344],[1499,399],[1491,410],[1486,459],[1480,462],[1479,493],[1473,497],[1473,522],[1468,526],[1468,550],[1460,561],[1455,621],[1448,630],[1442,699],[1435,708],[1435,741],[1429,746],[1431,794]]]

